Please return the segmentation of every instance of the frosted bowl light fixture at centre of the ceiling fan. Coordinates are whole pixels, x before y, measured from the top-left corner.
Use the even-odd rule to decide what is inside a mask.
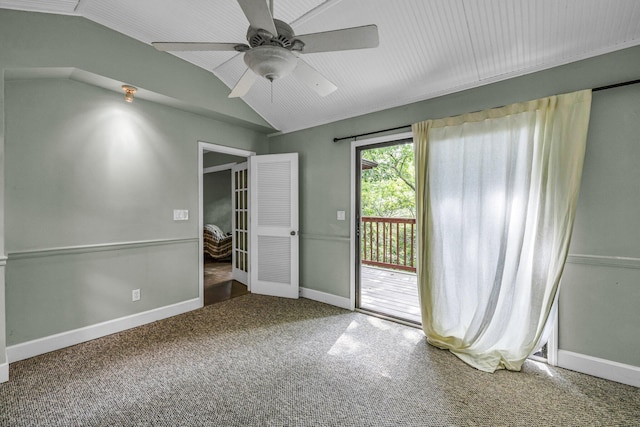
[[[283,47],[263,45],[245,52],[244,62],[257,75],[273,81],[291,74],[298,57]]]

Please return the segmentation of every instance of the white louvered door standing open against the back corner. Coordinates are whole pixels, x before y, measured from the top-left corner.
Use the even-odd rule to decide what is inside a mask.
[[[249,157],[251,292],[298,298],[298,153]]]

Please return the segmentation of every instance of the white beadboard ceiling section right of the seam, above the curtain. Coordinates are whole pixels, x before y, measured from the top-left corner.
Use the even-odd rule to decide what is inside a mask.
[[[638,40],[637,0],[464,2],[480,79],[561,64]]]

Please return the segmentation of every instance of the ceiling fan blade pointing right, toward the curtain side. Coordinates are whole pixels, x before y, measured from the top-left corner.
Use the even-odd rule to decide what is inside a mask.
[[[303,34],[296,39],[304,43],[302,53],[334,52],[337,50],[366,49],[378,47],[378,27],[344,28],[322,33]]]

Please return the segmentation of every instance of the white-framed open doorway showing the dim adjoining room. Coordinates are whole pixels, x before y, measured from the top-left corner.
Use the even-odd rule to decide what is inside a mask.
[[[199,143],[199,270],[203,305],[250,290],[246,164],[252,155],[255,153]]]

